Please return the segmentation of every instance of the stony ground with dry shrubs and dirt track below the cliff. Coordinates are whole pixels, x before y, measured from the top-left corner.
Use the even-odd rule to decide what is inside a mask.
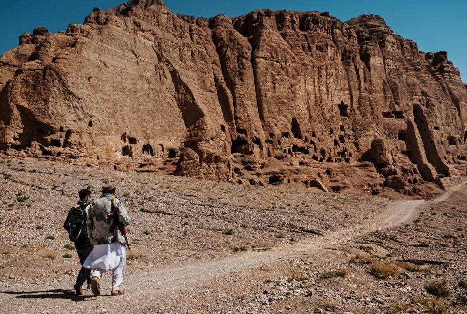
[[[11,157],[0,173],[1,313],[467,311],[465,186],[401,203]],[[75,297],[61,226],[104,183],[133,219],[126,295]]]

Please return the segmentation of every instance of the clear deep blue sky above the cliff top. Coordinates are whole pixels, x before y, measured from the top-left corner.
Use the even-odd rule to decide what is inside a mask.
[[[18,45],[18,36],[39,25],[56,32],[82,23],[94,7],[113,7],[125,0],[0,0],[0,53]],[[399,35],[420,50],[445,50],[467,82],[466,0],[165,0],[175,13],[212,17],[237,16],[258,8],[328,11],[346,21],[364,13],[379,14]]]

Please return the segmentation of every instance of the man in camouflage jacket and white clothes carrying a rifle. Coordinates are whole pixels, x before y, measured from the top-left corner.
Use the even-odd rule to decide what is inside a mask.
[[[100,278],[108,270],[112,271],[112,296],[122,295],[120,290],[125,276],[126,251],[125,237],[118,224],[127,226],[130,217],[122,202],[115,197],[115,187],[102,187],[100,198],[92,202],[88,214],[88,234],[94,245],[92,253],[84,262],[84,267],[92,268],[92,293],[100,296]]]

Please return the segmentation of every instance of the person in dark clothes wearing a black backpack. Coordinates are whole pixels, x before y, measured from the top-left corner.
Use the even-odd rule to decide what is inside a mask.
[[[91,206],[91,192],[88,189],[83,189],[78,192],[78,204],[73,206],[68,212],[67,219],[63,224],[65,230],[68,231],[70,241],[74,242],[76,251],[78,252],[79,262],[83,265],[88,255],[92,252],[93,245],[91,244],[88,232],[86,229],[86,220],[88,210]],[[88,281],[88,289],[91,288],[91,270],[81,267],[74,289],[76,295],[83,294],[83,283]]]

